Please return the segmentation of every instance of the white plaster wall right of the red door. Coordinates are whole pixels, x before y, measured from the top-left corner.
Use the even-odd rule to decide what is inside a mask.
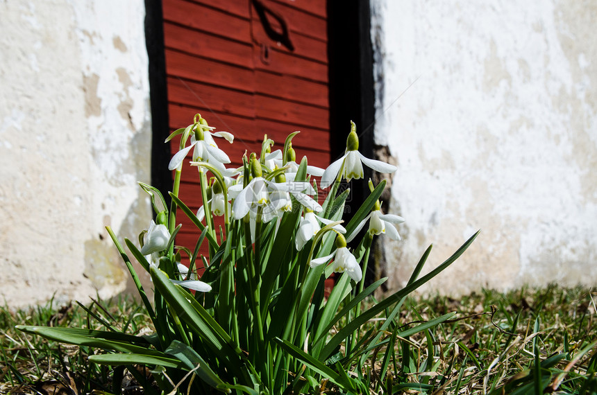
[[[372,0],[376,143],[398,163],[397,288],[597,285],[597,1]]]

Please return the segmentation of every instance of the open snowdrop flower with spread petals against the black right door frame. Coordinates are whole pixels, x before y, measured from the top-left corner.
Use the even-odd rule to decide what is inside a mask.
[[[351,132],[346,139],[346,153],[343,157],[330,164],[321,176],[321,188],[327,188],[337,179],[338,173],[342,170],[340,176],[347,181],[351,179],[360,179],[363,177],[363,164],[379,173],[394,173],[396,166],[387,164],[375,159],[364,157],[359,151],[359,138],[356,133],[356,126],[351,121]]]

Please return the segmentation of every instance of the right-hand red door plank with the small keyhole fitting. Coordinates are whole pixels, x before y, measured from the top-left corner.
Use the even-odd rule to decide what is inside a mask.
[[[267,57],[260,46],[253,50],[255,69],[278,73],[305,80],[328,83],[328,65],[314,60],[300,58],[290,53],[268,50]]]

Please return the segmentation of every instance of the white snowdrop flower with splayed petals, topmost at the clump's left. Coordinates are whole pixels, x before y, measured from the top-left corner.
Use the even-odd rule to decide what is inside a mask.
[[[194,133],[191,136],[191,145],[174,154],[174,157],[172,157],[168,164],[168,170],[180,168],[187,154],[194,148],[193,161],[208,162],[219,170],[225,171],[224,164],[229,164],[230,158],[228,158],[226,152],[218,148],[212,136],[223,137],[230,143],[234,141],[234,136],[228,132],[213,133],[209,129],[212,128],[207,125],[196,125]]]

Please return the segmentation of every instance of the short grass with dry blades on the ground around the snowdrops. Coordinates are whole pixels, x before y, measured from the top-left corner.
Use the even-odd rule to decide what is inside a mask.
[[[597,394],[596,301],[597,292],[556,286],[407,299],[395,318],[401,333],[458,314],[410,337],[384,333],[387,345],[364,356],[367,363],[359,365],[368,368],[354,374],[372,394]],[[0,393],[143,393],[126,369],[87,362],[94,349],[48,342],[15,331],[16,324],[151,332],[134,299],[16,313],[1,308]],[[322,385],[321,392],[333,389]]]

